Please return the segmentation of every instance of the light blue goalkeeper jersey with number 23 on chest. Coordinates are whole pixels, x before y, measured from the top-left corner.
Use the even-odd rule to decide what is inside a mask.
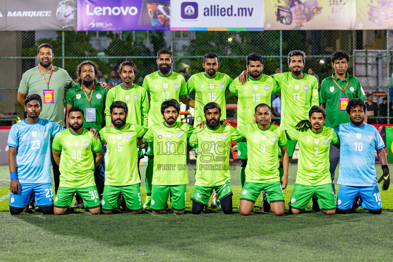
[[[64,130],[47,119],[30,124],[25,120],[11,126],[7,146],[17,148],[19,183],[51,183],[50,139]]]

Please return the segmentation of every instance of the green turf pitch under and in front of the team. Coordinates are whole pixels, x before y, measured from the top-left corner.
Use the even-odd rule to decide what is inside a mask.
[[[380,167],[377,167],[378,176]],[[290,185],[284,191],[286,209],[296,179],[290,166]],[[141,167],[144,170],[144,167]],[[142,174],[144,171],[141,172]],[[240,216],[238,170],[233,172],[234,214],[208,209],[191,214],[141,215],[118,212],[92,216],[72,212],[62,216],[40,213],[11,216],[0,212],[1,261],[388,261],[393,256],[393,198],[381,191],[384,211],[372,215],[358,210],[327,216],[310,210],[299,215],[276,217],[261,211],[260,198],[250,216]],[[0,179],[9,179],[0,167]],[[187,196],[193,190],[193,174]],[[9,183],[4,181],[5,184]],[[0,188],[0,197],[8,187]],[[146,188],[141,187],[142,198]],[[8,210],[9,198],[0,202]],[[80,210],[82,211],[82,210]]]

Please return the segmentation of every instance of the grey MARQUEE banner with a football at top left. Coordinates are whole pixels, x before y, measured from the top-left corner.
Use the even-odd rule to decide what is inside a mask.
[[[3,0],[0,31],[76,29],[76,0]]]

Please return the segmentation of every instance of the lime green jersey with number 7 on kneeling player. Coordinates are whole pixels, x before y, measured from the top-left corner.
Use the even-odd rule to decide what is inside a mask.
[[[317,186],[332,183],[329,168],[330,144],[339,139],[331,127],[323,126],[322,131],[314,133],[311,128],[286,130],[288,140],[299,143],[299,163],[296,183]]]

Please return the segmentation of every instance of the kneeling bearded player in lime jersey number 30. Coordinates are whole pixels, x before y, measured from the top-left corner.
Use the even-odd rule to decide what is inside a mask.
[[[70,128],[57,133],[52,144],[53,159],[60,167],[60,185],[53,211],[55,215],[63,214],[77,192],[90,213],[99,214],[101,207],[93,170],[104,158],[102,145],[82,128],[81,108],[71,108],[67,120]]]

